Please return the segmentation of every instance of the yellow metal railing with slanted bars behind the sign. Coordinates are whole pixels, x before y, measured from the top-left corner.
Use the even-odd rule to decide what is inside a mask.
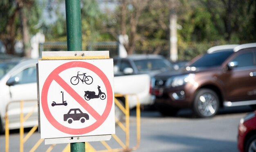
[[[125,97],[125,107],[116,99],[118,97]],[[23,116],[23,103],[27,101],[14,101],[16,103],[20,103],[20,152],[23,152],[24,150],[24,143],[29,139],[29,137],[36,131],[38,128],[38,125],[35,125],[31,128],[31,130],[27,133],[27,135],[24,137],[24,126],[23,123],[27,121],[27,119],[31,116],[31,114],[36,110],[37,104],[33,107],[31,112],[26,114],[26,116]],[[13,102],[11,102],[13,103]],[[9,103],[6,107],[6,113],[5,113],[5,152],[9,152],[9,118],[8,118],[8,107],[11,104]],[[130,108],[129,108],[129,102],[128,102],[128,95],[122,95],[122,94],[115,94],[115,104],[120,108],[120,110],[125,114],[125,124],[123,124],[121,121],[117,121],[117,125],[125,132],[125,143],[119,139],[119,137],[116,134],[112,134],[113,139],[117,141],[117,143],[121,146],[121,148],[112,149],[110,145],[107,144],[106,141],[100,141],[102,145],[106,148],[106,150],[100,150],[96,151],[90,143],[85,143],[85,150],[86,152],[120,152],[120,151],[131,151],[136,150],[139,148],[140,144],[140,103],[139,99],[137,97],[137,107],[136,107],[136,123],[137,123],[137,144],[135,147],[129,148],[130,146]],[[31,148],[29,152],[34,152],[39,145],[43,142],[44,139],[39,139],[37,143]],[[56,144],[52,144],[47,149],[47,152],[50,152]],[[63,152],[70,152],[70,144],[67,144],[67,146],[63,149]]]

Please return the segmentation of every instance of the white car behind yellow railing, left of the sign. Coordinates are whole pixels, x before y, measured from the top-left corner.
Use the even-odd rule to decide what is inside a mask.
[[[38,123],[36,63],[36,59],[0,63],[0,131],[4,130],[7,109],[9,129],[20,128],[19,101],[24,101],[24,117],[34,110],[23,125],[32,127]]]

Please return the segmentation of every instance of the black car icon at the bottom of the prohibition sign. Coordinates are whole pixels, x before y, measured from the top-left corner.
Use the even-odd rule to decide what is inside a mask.
[[[64,114],[63,117],[64,121],[67,121],[68,123],[72,123],[73,121],[81,121],[81,123],[84,123],[85,119],[89,119],[89,115],[83,113],[79,108],[70,109],[70,111],[67,114]]]

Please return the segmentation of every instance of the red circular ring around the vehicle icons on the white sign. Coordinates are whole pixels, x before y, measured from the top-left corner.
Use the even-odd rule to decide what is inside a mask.
[[[52,114],[49,110],[48,102],[47,102],[49,87],[52,84],[53,80],[56,81],[57,79],[58,80],[61,79],[61,77],[58,74],[60,74],[61,72],[63,72],[66,69],[70,69],[73,67],[82,67],[85,69],[89,69],[92,72],[94,72],[95,74],[97,74],[103,81],[103,83],[106,87],[106,91],[107,91],[107,93],[106,93],[107,94],[107,104],[106,104],[106,108],[105,108],[103,114],[102,115],[98,114],[99,116],[97,116],[97,112],[90,113],[92,115],[92,117],[97,117],[96,122],[88,127],[79,128],[79,129],[69,128],[69,127],[66,127],[66,126],[62,125],[61,123],[59,123],[54,118],[54,116],[52,116]],[[65,84],[64,81],[62,81],[62,82]],[[66,89],[68,87],[70,87],[70,86],[67,85],[67,83],[66,83],[66,85],[64,85],[63,89]],[[81,97],[81,96],[79,96],[79,97]],[[86,103],[82,97],[79,98],[79,100],[81,101],[79,103],[80,105],[83,103],[84,104]],[[67,133],[67,134],[74,134],[74,135],[86,134],[86,133],[92,132],[93,130],[97,129],[108,117],[111,107],[112,107],[112,103],[113,103],[113,92],[112,92],[112,87],[110,85],[110,82],[109,82],[107,76],[98,67],[96,67],[90,63],[86,63],[86,62],[82,62],[82,61],[72,61],[72,62],[64,63],[63,65],[58,66],[46,78],[45,83],[43,85],[43,89],[42,89],[41,104],[42,104],[42,108],[43,108],[45,117],[47,118],[49,123],[51,123],[56,129],[60,130],[61,132]],[[85,105],[82,105],[82,106],[85,107]]]

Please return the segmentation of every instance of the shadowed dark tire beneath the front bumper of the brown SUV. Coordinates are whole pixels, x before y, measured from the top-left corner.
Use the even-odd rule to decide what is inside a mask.
[[[163,116],[175,116],[177,112],[179,112],[178,108],[174,108],[168,105],[162,105],[157,104],[156,105],[157,110],[163,115]]]

